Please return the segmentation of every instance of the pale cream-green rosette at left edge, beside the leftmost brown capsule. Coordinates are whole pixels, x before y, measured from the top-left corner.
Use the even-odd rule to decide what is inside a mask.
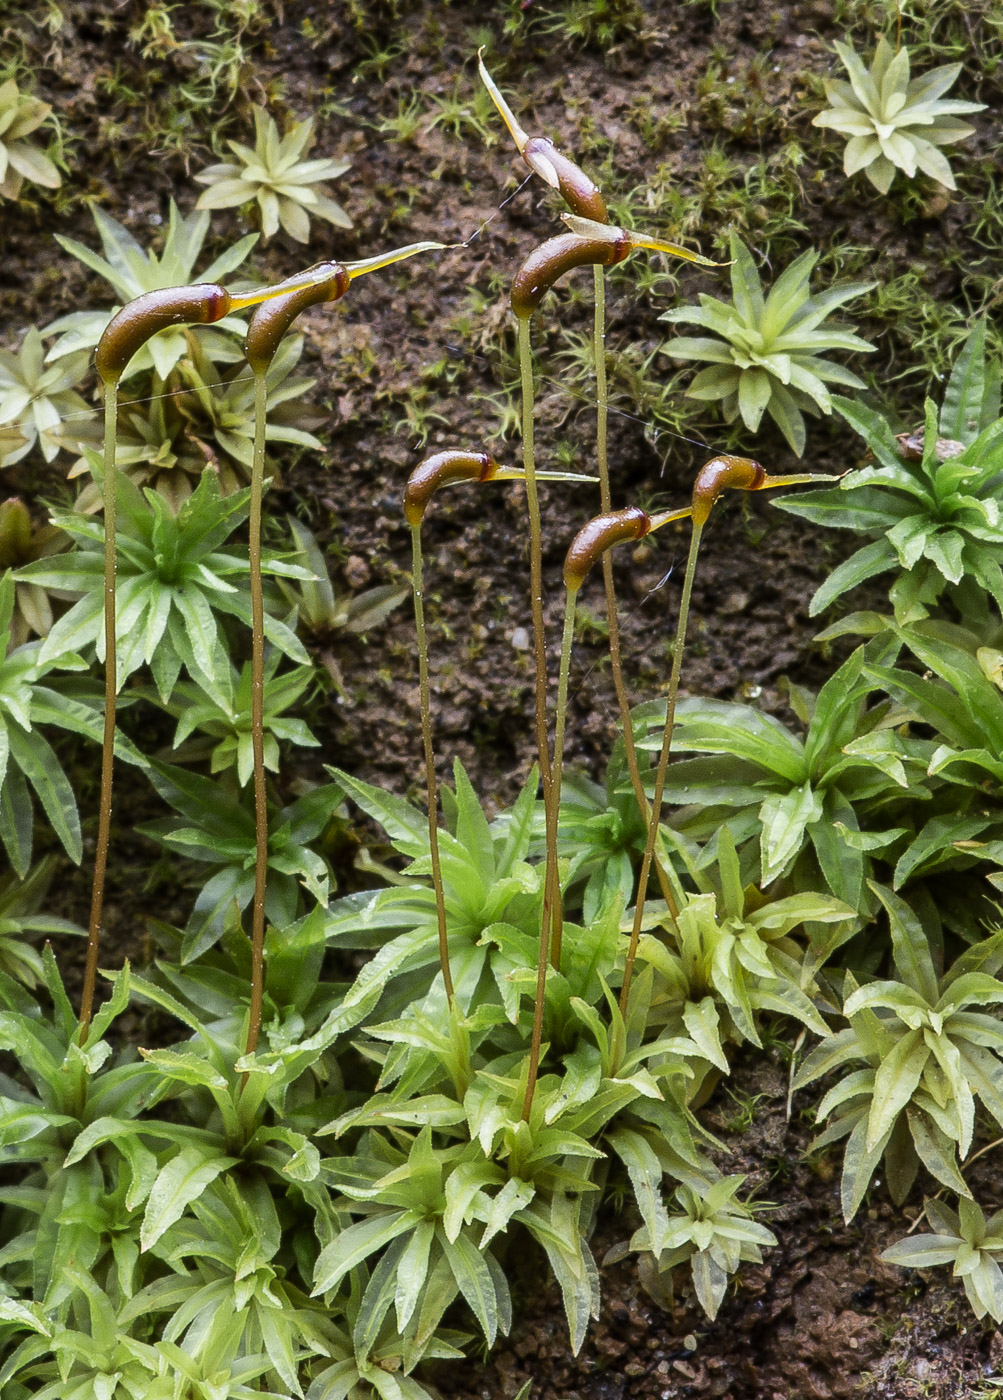
[[[1,91],[1,90],[0,90]],[[0,424],[17,424],[24,438],[6,452],[3,465],[13,466],[38,444],[46,462],[60,448],[56,433],[67,419],[94,416],[74,385],[87,374],[90,356],[67,356],[62,364],[45,363],[45,346],[36,326],[31,326],[20,350],[0,350]]]

